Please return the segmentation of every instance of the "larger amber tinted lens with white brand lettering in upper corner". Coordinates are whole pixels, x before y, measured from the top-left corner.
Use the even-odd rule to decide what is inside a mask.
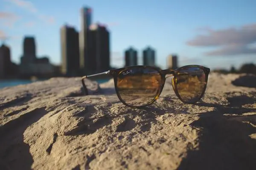
[[[160,91],[161,75],[154,68],[130,68],[119,73],[117,91],[130,106],[151,103]]]

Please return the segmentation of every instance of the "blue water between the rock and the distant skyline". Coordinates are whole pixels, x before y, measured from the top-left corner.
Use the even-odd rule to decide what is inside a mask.
[[[98,79],[96,82],[98,83],[104,83],[108,82],[109,79]],[[38,81],[43,81],[43,80],[38,80]],[[12,80],[0,80],[0,88],[5,88],[5,87],[11,87],[15,85],[25,85],[29,84],[35,81],[32,80],[21,80],[21,79],[12,79]]]

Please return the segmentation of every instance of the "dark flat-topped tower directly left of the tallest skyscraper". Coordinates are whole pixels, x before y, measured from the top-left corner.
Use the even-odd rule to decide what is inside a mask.
[[[79,73],[79,34],[67,25],[61,27],[61,72],[67,76]]]

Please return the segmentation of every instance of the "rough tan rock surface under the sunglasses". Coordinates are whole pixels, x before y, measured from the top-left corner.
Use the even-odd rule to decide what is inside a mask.
[[[80,78],[0,89],[0,169],[255,169],[256,88],[233,85],[241,76],[210,74],[195,105],[169,79],[143,109],[119,102],[113,80],[87,80],[89,96]]]

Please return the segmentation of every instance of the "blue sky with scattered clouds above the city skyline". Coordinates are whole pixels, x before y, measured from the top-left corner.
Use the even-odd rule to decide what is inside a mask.
[[[24,36],[34,36],[38,57],[61,64],[60,28],[80,30],[80,9],[108,26],[111,66],[124,66],[124,51],[156,50],[156,62],[177,54],[178,65],[239,68],[256,63],[256,0],[0,0],[0,37],[20,63]]]

